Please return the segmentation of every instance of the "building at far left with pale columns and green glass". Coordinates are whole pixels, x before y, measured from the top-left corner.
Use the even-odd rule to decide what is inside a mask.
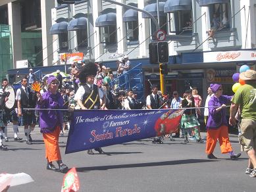
[[[53,37],[49,28],[53,7],[55,2],[47,0],[0,1],[1,77],[7,69],[16,68],[19,60],[28,60],[27,67],[52,64]]]

